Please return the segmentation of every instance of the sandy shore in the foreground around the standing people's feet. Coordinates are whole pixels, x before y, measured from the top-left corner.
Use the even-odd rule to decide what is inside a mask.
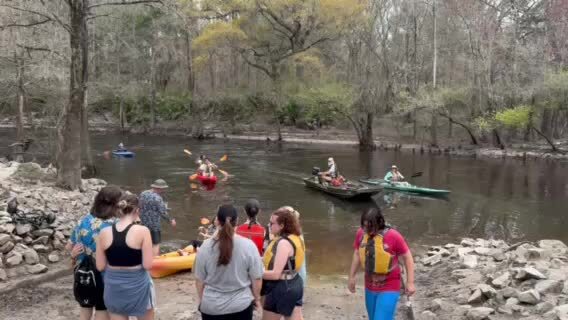
[[[155,280],[160,320],[200,319],[191,273]],[[0,296],[0,319],[78,319],[70,276]],[[342,279],[314,279],[306,292],[305,319],[365,319],[362,290],[349,294]]]

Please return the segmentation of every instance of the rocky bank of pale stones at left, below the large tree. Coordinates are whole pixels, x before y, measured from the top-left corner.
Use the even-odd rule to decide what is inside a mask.
[[[76,221],[106,184],[83,180],[80,191],[65,191],[54,181],[52,168],[0,163],[0,290],[57,265]]]

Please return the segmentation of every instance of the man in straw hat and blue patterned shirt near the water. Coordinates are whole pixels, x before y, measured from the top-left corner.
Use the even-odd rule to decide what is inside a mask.
[[[176,220],[168,214],[168,208],[161,194],[168,188],[168,184],[163,179],[158,179],[150,185],[152,189],[140,194],[138,199],[140,206],[140,220],[142,224],[150,229],[152,236],[152,251],[155,256],[160,254],[161,219],[166,219],[175,228]]]

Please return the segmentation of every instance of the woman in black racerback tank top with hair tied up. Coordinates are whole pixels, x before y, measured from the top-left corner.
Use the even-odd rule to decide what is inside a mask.
[[[104,271],[104,301],[112,320],[154,319],[155,292],[150,230],[136,223],[138,198],[127,194],[118,203],[119,219],[97,239],[97,269]]]

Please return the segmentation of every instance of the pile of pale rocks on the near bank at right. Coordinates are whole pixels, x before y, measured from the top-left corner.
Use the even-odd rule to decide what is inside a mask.
[[[420,319],[568,319],[568,247],[561,241],[463,239],[416,260]]]

